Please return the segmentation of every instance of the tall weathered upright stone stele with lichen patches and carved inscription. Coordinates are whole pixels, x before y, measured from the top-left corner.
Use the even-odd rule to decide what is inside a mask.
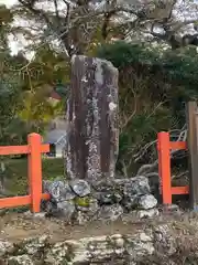
[[[118,70],[108,61],[72,59],[66,172],[91,186],[114,178],[118,157]]]

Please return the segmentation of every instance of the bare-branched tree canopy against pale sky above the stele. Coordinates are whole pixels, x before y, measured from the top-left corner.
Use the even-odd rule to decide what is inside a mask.
[[[194,0],[19,0],[13,13],[29,21],[29,39],[59,42],[70,56],[88,51],[96,32],[101,41],[146,40],[173,50],[197,45],[197,8]]]

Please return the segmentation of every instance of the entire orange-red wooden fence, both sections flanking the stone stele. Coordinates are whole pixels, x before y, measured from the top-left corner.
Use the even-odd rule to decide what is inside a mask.
[[[161,180],[161,191],[163,203],[170,204],[173,194],[188,194],[188,187],[172,187],[170,173],[170,150],[186,149],[185,141],[169,141],[169,134],[162,131],[157,135],[158,150],[158,173]],[[41,136],[31,134],[25,146],[0,147],[0,155],[28,153],[29,156],[29,195],[0,199],[1,208],[13,208],[20,205],[32,206],[32,212],[40,212],[42,199],[50,199],[50,194],[42,193],[42,153],[50,151],[50,145],[42,145]]]

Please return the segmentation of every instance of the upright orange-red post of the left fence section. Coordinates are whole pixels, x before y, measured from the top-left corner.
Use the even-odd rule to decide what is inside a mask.
[[[29,184],[32,212],[40,212],[42,199],[42,139],[37,134],[28,136],[29,155]]]

